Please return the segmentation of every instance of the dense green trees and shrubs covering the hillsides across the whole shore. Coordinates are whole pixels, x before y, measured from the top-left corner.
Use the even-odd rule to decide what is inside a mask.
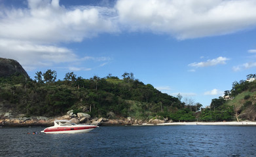
[[[210,107],[201,109],[200,103],[182,102],[177,97],[162,94],[151,84],[134,79],[133,73],[124,73],[122,79],[113,77],[90,79],[67,73],[63,80],[56,80],[56,71],[36,73],[35,79],[22,75],[0,77],[0,105],[26,116],[56,116],[73,109],[74,113],[86,112],[94,117],[167,118],[178,121],[223,121],[234,120],[246,107],[255,106],[253,92],[256,82],[241,80],[234,82],[232,90],[225,95],[239,97],[244,91],[251,93],[243,97],[243,105],[235,107],[234,100],[223,97],[212,99]]]

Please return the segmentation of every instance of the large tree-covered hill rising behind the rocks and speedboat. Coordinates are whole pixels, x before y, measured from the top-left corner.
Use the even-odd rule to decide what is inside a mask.
[[[0,107],[2,112],[26,116],[56,116],[73,109],[94,117],[132,116],[152,118],[171,113],[185,105],[176,97],[162,94],[151,84],[134,79],[133,73],[124,73],[122,79],[108,75],[90,79],[67,73],[56,80],[56,71],[36,73],[35,80],[22,75],[0,77]]]

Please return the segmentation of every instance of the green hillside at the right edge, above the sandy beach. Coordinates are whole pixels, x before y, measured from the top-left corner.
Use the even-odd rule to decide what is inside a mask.
[[[210,109],[202,111],[201,120],[255,120],[256,75],[247,75],[246,80],[234,81],[232,89],[223,97],[212,99]],[[232,118],[233,117],[233,118]]]

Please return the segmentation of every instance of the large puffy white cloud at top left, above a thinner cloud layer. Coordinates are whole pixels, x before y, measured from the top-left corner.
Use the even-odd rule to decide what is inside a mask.
[[[29,9],[2,10],[0,37],[37,43],[82,41],[101,32],[115,32],[110,17],[101,14],[103,7],[66,9],[58,0],[28,1]],[[111,12],[111,10],[109,10]]]

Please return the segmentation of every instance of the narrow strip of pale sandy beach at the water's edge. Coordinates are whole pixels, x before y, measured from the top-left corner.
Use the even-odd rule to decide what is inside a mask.
[[[187,126],[187,125],[201,125],[201,126],[256,126],[256,122],[172,122],[156,124],[158,126]]]

